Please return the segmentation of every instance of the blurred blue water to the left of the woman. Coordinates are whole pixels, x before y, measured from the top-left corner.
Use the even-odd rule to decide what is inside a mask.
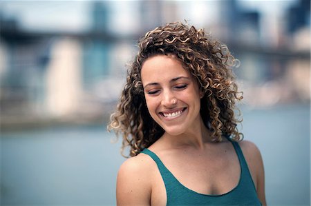
[[[1,205],[115,205],[124,160],[104,126],[3,134]]]

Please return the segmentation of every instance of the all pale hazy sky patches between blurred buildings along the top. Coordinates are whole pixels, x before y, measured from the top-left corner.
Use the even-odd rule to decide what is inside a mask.
[[[298,0],[283,1],[238,1],[244,8],[282,14],[285,8]],[[56,30],[79,32],[91,26],[91,3],[93,1],[1,1],[0,10],[4,18],[15,17],[22,28],[28,30]],[[111,1],[113,2],[113,1]],[[178,1],[180,20],[191,19],[202,24],[208,16],[218,17],[216,1]],[[137,1],[119,1],[111,6],[111,14],[117,14],[111,23],[115,27],[129,30],[131,21],[135,21],[138,10],[134,7]],[[119,6],[116,6],[119,5]],[[132,6],[132,8],[131,8]],[[130,8],[130,9],[128,9]],[[218,16],[217,16],[218,15]],[[184,17],[185,16],[185,17]],[[205,20],[202,20],[205,19]],[[127,28],[126,28],[127,26]]]

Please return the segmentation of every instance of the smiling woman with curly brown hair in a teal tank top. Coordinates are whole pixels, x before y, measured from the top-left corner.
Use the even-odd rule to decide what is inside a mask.
[[[182,23],[140,39],[109,130],[130,156],[117,205],[265,205],[263,161],[242,141],[225,45]]]

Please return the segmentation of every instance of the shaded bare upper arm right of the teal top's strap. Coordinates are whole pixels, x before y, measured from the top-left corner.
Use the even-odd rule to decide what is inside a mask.
[[[263,205],[266,205],[265,201],[265,171],[263,167],[263,158],[258,147],[250,141],[242,141],[241,149],[247,161],[249,171],[252,174],[254,184],[259,200]]]

